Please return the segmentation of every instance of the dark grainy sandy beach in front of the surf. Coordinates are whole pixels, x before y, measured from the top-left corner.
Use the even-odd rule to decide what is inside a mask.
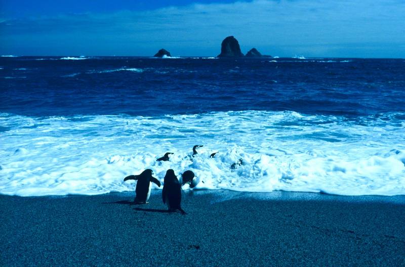
[[[2,266],[405,266],[405,197],[0,196]]]

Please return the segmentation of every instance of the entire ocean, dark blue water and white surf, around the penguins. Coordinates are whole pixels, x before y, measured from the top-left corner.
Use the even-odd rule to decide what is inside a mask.
[[[125,176],[172,168],[196,189],[404,195],[404,73],[404,59],[1,57],[0,194],[133,191]]]

